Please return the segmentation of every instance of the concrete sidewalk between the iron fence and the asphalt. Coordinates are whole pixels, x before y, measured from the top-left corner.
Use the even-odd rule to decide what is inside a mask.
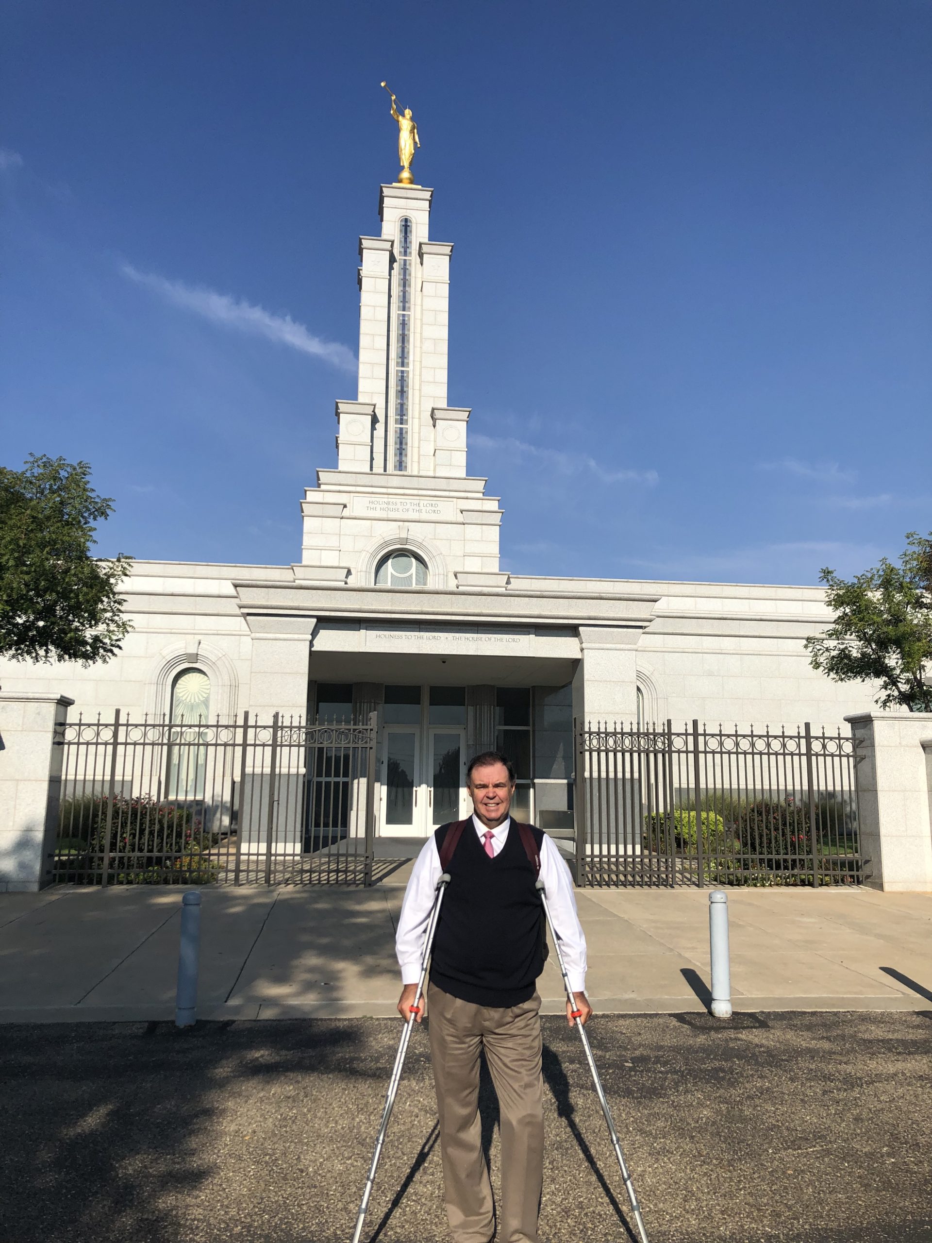
[[[369,890],[203,889],[199,1017],[395,1013],[394,929],[409,868]],[[708,894],[578,891],[598,1009],[677,1013],[708,996]],[[932,1007],[932,894],[732,890],[738,1011]],[[0,1022],[174,1014],[181,890],[0,895]],[[553,957],[544,1012],[562,1008]]]

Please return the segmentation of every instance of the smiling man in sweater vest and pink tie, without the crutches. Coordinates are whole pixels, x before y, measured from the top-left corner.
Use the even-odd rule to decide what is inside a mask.
[[[440,1150],[454,1243],[490,1243],[496,1232],[492,1188],[478,1117],[480,1055],[485,1050],[501,1114],[502,1203],[498,1243],[538,1243],[543,1181],[541,997],[547,956],[543,883],[559,938],[567,1022],[585,1023],[585,937],[573,880],[553,842],[512,820],[514,769],[486,752],[470,764],[473,814],[441,825],[421,850],[405,891],[395,947],[408,1023],[437,885],[449,874],[436,917],[427,986],[430,1052],[440,1114]],[[423,1009],[415,1013],[420,1023]]]

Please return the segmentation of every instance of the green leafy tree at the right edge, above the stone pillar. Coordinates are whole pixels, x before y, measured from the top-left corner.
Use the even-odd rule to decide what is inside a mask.
[[[898,566],[884,557],[850,582],[831,569],[819,578],[835,622],[805,641],[813,669],[880,684],[880,707],[932,712],[932,532],[911,531]]]

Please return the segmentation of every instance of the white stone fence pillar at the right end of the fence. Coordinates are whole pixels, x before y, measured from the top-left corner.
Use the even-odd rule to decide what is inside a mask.
[[[897,892],[932,891],[932,712],[846,716],[856,747],[861,858],[866,881]]]

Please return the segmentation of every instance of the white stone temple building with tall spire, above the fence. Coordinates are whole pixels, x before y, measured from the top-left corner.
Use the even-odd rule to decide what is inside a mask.
[[[291,566],[138,561],[133,630],[106,665],[2,663],[4,691],[71,696],[85,718],[378,713],[377,832],[465,812],[467,757],[497,747],[522,818],[572,822],[573,722],[698,718],[838,726],[869,687],[816,674],[820,588],[548,578],[501,569],[500,498],[467,474],[470,410],[447,405],[452,245],[434,191],[383,185],[360,237],[359,375],[337,462],[301,500]]]

